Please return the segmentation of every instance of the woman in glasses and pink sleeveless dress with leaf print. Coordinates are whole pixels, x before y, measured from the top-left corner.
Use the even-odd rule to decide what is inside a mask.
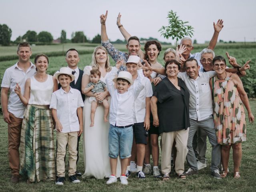
[[[247,64],[250,61],[247,62]],[[216,76],[210,80],[214,92],[214,122],[218,143],[221,144],[222,178],[228,175],[230,149],[233,150],[234,178],[240,178],[239,167],[242,160],[242,142],[246,141],[244,106],[250,122],[254,116],[242,81],[237,74],[225,71],[226,60],[216,56],[212,60]]]

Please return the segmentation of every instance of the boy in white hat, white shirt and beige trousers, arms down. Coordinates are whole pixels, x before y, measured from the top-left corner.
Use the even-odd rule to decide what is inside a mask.
[[[68,176],[70,182],[79,183],[76,178],[77,159],[77,138],[83,132],[83,112],[84,102],[80,92],[70,87],[70,82],[75,79],[70,68],[62,67],[55,74],[55,77],[62,86],[52,93],[50,108],[52,116],[56,122],[56,138],[58,141],[57,151],[57,176],[56,185],[63,185],[65,180],[66,145],[68,144],[69,168]]]

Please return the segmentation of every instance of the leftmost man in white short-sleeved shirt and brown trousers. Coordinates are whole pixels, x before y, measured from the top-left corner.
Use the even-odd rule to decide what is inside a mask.
[[[6,69],[1,84],[1,105],[4,121],[8,123],[8,158],[12,170],[11,182],[19,182],[20,171],[20,133],[25,106],[20,101],[14,88],[18,83],[24,94],[25,82],[36,73],[36,67],[30,62],[31,46],[27,42],[18,45],[19,61]],[[8,99],[8,92],[10,92]]]

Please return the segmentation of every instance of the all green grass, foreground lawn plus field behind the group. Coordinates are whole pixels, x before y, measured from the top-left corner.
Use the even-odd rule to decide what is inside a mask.
[[[95,45],[96,46],[96,45]],[[125,49],[124,45],[117,45],[119,49]],[[204,46],[195,46],[195,49],[192,51],[200,52]],[[33,53],[46,53],[52,51],[63,51],[68,50],[68,48],[77,48],[78,50],[93,50],[94,46],[85,46],[83,44],[65,44],[64,48],[62,45],[54,46],[33,46]],[[163,54],[168,46],[164,46],[158,57],[158,62],[164,64]],[[256,48],[252,47],[243,47],[241,46],[227,46],[226,48],[222,45],[217,46],[214,50],[216,55],[225,56],[225,52],[228,51],[230,55],[235,56],[239,64],[243,64],[246,60],[251,59],[251,67],[255,67],[256,63]],[[4,55],[14,55],[16,54],[16,46],[11,47],[1,47],[0,46],[0,56]],[[84,66],[89,65],[91,62],[92,54],[81,54],[79,68],[83,69]],[[226,57],[226,56],[225,56]],[[18,57],[17,57],[18,59]],[[56,70],[59,70],[60,67],[66,66],[66,61],[64,56],[54,56],[50,57],[48,73],[54,74]],[[33,58],[31,58],[33,61]],[[0,62],[0,80],[6,68],[15,64],[17,60],[2,61]],[[110,59],[110,63],[113,66],[114,61]],[[256,101],[250,101],[253,114],[256,116]],[[232,178],[233,162],[230,159],[229,169],[231,174],[228,175],[226,179],[217,180],[210,176],[210,160],[211,160],[211,147],[208,142],[208,149],[206,153],[207,168],[200,170],[200,173],[195,176],[189,176],[186,180],[179,180],[173,173],[172,178],[168,182],[163,182],[153,178],[153,176],[148,176],[146,180],[138,180],[135,176],[129,178],[128,186],[122,186],[120,182],[117,182],[113,185],[107,186],[106,179],[96,180],[94,178],[81,178],[80,184],[71,184],[66,181],[64,186],[56,186],[54,182],[39,182],[37,184],[26,184],[26,179],[23,179],[18,184],[12,184],[10,182],[10,169],[8,164],[8,133],[7,133],[7,124],[3,121],[2,115],[0,115],[0,191],[5,192],[48,192],[48,191],[234,191],[234,190],[243,190],[243,191],[255,191],[256,186],[256,177],[254,173],[256,172],[256,132],[255,123],[250,124],[247,122],[247,138],[248,141],[242,144],[243,147],[243,157],[242,164],[240,168],[241,178],[239,180],[234,180]],[[80,141],[80,160],[78,162],[78,170],[81,172],[84,171],[84,162],[83,162],[83,150],[82,150],[82,140]],[[232,157],[232,154],[230,155]],[[160,161],[159,161],[160,162]],[[185,164],[186,165],[186,164]],[[187,166],[186,166],[187,169]]]

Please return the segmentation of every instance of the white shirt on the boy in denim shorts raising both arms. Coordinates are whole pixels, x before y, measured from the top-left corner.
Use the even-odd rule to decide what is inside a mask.
[[[140,94],[140,91],[144,88],[144,84],[142,84],[144,76],[139,75],[138,83],[133,89],[129,89],[127,92],[120,94],[115,89],[113,82],[117,72],[118,69],[114,67],[106,77],[107,88],[111,96],[109,122],[114,126],[127,126],[134,123],[134,101]]]

